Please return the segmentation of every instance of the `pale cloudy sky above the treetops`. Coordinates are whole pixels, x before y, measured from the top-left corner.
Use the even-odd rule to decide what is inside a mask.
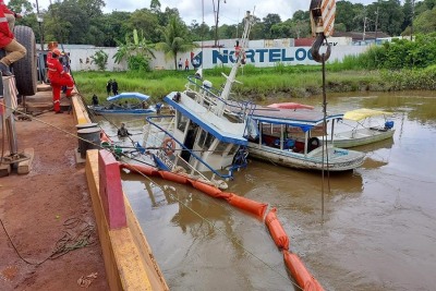
[[[56,0],[52,0],[55,2]],[[9,1],[5,1],[9,2]],[[31,0],[35,3],[36,0]],[[135,11],[136,9],[149,8],[149,0],[106,0],[104,12],[118,11]],[[204,0],[204,21],[209,26],[214,25],[214,5],[218,4],[218,0]],[[225,3],[226,2],[226,3]],[[352,3],[370,4],[376,0],[350,0]],[[50,0],[38,0],[39,9],[47,9]],[[203,22],[202,0],[160,0],[162,10],[165,8],[177,8],[183,21],[190,25],[193,20],[197,23]],[[219,25],[237,24],[242,20],[245,11],[250,10],[254,14],[263,19],[268,13],[279,14],[281,21],[292,17],[298,10],[308,10],[310,0],[220,0],[219,8]]]

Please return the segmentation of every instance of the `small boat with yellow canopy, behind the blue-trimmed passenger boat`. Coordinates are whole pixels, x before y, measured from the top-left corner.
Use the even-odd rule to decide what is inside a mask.
[[[347,132],[337,132],[332,135],[332,138],[331,135],[327,138],[335,146],[342,148],[362,146],[391,138],[395,133],[393,121],[387,120],[387,117],[391,114],[390,112],[367,108],[348,111],[343,114],[343,122],[353,122],[353,124],[348,123],[353,129]],[[375,117],[383,117],[384,123],[382,125],[379,123],[376,125],[371,124],[370,119]]]

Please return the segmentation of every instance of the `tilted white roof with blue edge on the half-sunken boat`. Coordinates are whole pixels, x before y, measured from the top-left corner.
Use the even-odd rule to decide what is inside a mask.
[[[198,105],[187,96],[184,101],[190,104],[175,102],[172,99],[175,94],[177,92],[170,93],[164,98],[164,100],[183,116],[198,124],[202,129],[209,132],[219,141],[230,144],[247,145],[249,142],[243,137],[243,133],[237,134],[237,130],[234,130],[238,128],[238,124],[230,122],[225,118],[217,118],[215,114],[211,114],[203,105]],[[183,93],[181,94],[182,96],[184,95]],[[218,124],[219,122],[222,124]],[[223,131],[222,128],[228,131]]]

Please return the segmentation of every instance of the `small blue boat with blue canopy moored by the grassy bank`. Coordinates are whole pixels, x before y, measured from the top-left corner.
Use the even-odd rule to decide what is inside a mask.
[[[95,114],[153,114],[156,113],[155,106],[148,106],[150,97],[137,92],[121,93],[110,96],[104,106],[88,106]]]

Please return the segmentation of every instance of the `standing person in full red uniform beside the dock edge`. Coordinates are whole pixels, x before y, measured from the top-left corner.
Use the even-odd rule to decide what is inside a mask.
[[[50,80],[52,93],[53,93],[53,108],[56,113],[62,113],[60,106],[61,87],[66,86],[66,97],[71,97],[73,90],[74,81],[70,74],[65,73],[59,57],[61,51],[55,48],[51,51],[51,58],[47,58],[48,66],[48,78]]]

